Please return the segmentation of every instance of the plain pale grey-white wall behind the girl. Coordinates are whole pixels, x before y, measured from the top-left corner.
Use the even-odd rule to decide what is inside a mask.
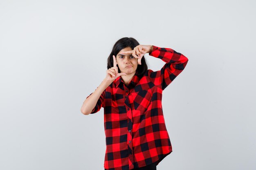
[[[80,108],[133,37],[189,58],[163,91],[173,152],[157,170],[255,170],[255,4],[0,0],[0,169],[103,170],[103,108]]]

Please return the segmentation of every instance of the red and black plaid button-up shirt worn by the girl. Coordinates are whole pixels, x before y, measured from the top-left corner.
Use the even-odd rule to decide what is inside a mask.
[[[121,76],[117,77],[91,112],[104,108],[107,170],[158,164],[172,152],[162,110],[162,91],[183,71],[188,58],[157,46],[149,55],[166,64],[159,71],[147,70],[143,76],[135,73],[128,86]]]

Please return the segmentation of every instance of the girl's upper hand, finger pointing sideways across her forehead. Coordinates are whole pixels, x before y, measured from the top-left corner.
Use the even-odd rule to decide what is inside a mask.
[[[144,54],[150,53],[153,50],[152,45],[137,45],[133,50],[122,52],[121,54],[132,54],[133,57],[138,59],[138,64],[141,65],[141,58]]]

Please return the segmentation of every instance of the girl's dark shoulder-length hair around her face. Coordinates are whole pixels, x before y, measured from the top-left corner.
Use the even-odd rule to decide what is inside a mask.
[[[110,53],[110,55],[108,56],[108,60],[107,60],[107,68],[111,68],[114,66],[113,63],[113,55],[115,55],[115,57],[117,57],[117,54],[119,53],[119,51],[121,51],[122,49],[126,48],[126,47],[130,47],[132,50],[139,45],[139,42],[137,40],[135,40],[134,38],[128,38],[128,37],[124,37],[119,39],[113,46],[113,49]],[[118,68],[118,73],[120,73],[120,69],[117,65]],[[143,57],[141,58],[141,65],[138,64],[136,72],[137,75],[141,76],[144,75],[144,73],[148,70],[148,66],[146,64],[146,60],[145,57],[143,55]]]

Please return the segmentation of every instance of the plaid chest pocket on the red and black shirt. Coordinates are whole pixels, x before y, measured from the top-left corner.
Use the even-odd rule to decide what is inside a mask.
[[[146,90],[141,90],[135,93],[131,93],[131,103],[134,105],[135,110],[145,111],[150,104],[152,95]]]

